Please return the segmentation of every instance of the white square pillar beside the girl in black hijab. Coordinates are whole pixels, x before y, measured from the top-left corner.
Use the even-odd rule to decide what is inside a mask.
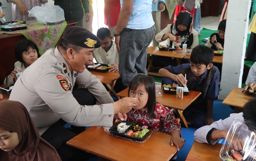
[[[219,99],[225,99],[234,87],[241,87],[250,6],[251,0],[228,3]]]

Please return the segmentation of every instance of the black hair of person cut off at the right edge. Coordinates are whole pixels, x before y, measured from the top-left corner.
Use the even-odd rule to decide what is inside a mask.
[[[254,127],[256,127],[256,98],[250,99],[243,109],[244,119],[250,121]]]

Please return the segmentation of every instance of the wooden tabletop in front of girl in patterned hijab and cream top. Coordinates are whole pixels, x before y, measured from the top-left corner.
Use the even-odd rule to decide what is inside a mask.
[[[148,54],[158,55],[158,56],[165,56],[165,57],[173,57],[173,58],[183,58],[186,54],[175,54],[173,51],[162,51],[159,50],[156,46],[148,47]]]

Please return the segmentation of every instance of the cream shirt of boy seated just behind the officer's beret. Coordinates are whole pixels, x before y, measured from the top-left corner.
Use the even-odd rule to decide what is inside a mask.
[[[99,48],[95,48],[92,54],[96,59],[97,63],[118,64],[118,52],[117,52],[116,44],[114,43],[113,40],[112,40],[112,46],[110,46],[110,49],[107,52],[102,47],[99,47]]]

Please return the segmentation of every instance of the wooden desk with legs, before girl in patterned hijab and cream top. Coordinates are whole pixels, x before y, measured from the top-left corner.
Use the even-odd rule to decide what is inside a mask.
[[[178,65],[181,64],[181,59],[186,56],[186,54],[183,54],[183,55],[175,54],[173,51],[161,51],[156,46],[148,47],[148,55],[150,55],[150,54],[152,56],[151,56],[151,58],[149,58],[149,56],[148,56],[149,65],[148,65],[147,71],[148,71],[148,75],[155,75],[155,76],[161,76],[158,73],[149,72],[155,55],[176,58]]]

